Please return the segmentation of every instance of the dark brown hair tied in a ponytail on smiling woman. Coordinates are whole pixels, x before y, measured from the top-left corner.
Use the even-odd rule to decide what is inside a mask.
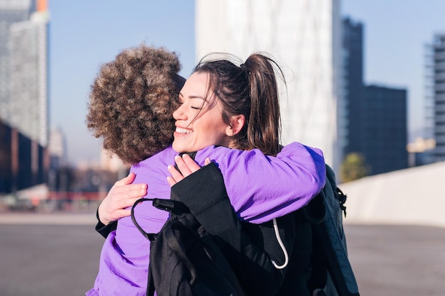
[[[209,60],[214,55],[204,57],[193,72],[206,72],[210,76],[209,89],[223,104],[226,124],[230,124],[230,116],[245,116],[245,126],[233,136],[235,147],[241,150],[258,148],[264,154],[276,155],[281,119],[275,69],[284,81],[279,65],[262,53],[250,55],[244,63],[233,55]]]

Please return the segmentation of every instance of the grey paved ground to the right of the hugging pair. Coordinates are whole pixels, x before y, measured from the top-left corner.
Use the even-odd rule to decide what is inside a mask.
[[[445,229],[346,225],[362,296],[444,296]]]

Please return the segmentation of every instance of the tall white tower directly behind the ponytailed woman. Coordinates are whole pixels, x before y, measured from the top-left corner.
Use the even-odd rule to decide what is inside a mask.
[[[341,17],[338,0],[195,1],[195,48],[232,53],[245,60],[270,53],[284,70],[280,98],[283,141],[323,150],[338,170],[341,97]]]

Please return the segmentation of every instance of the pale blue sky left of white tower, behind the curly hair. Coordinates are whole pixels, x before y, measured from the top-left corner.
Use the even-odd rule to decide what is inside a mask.
[[[50,126],[65,134],[70,163],[98,162],[101,142],[85,116],[100,65],[144,43],[175,51],[188,77],[195,62],[194,1],[53,0],[49,10]]]

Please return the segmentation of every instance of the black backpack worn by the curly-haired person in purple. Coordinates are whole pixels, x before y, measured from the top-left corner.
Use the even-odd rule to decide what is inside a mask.
[[[151,201],[171,213],[158,234],[147,234],[134,218],[134,207]],[[147,295],[244,296],[235,274],[212,236],[188,208],[171,199],[139,199],[132,220],[151,241]]]

